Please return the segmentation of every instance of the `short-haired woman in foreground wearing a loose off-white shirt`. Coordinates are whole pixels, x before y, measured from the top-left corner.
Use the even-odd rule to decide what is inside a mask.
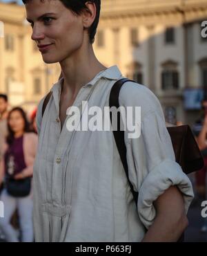
[[[112,131],[68,131],[70,107],[87,111],[82,103],[88,102],[88,109],[103,110],[110,89],[122,77],[117,66],[103,66],[92,48],[101,1],[23,3],[43,61],[59,62],[62,75],[44,113],[45,98],[37,111],[35,241],[177,241],[188,223],[193,190],[175,162],[155,95],[135,82],[127,82],[120,92],[121,106],[141,107],[141,136],[129,138],[126,131],[130,181],[139,191],[137,208]],[[78,126],[78,115],[74,121]]]

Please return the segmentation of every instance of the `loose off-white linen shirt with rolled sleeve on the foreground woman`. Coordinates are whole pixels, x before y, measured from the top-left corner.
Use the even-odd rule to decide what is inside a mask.
[[[122,78],[117,66],[97,74],[84,85],[74,102],[88,108],[109,105],[112,85]],[[186,212],[193,189],[175,162],[164,114],[146,86],[127,82],[119,101],[124,107],[141,107],[141,136],[125,132],[130,181],[139,192],[137,207],[121,164],[112,131],[61,130],[59,99],[63,78],[52,86],[43,119],[39,103],[39,145],[34,161],[35,241],[141,241],[152,225],[153,201],[170,185],[184,195]]]

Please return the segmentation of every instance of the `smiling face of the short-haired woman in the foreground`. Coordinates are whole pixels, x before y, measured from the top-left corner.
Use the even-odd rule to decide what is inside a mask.
[[[61,1],[30,0],[26,3],[26,14],[32,26],[32,39],[44,62],[61,62],[83,44],[81,15],[74,15]]]

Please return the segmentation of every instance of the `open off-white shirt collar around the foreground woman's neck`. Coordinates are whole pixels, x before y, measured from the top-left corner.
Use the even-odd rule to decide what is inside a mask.
[[[95,85],[96,82],[98,80],[100,80],[102,77],[106,78],[108,80],[119,80],[122,77],[122,74],[121,74],[121,72],[119,71],[119,68],[116,65],[115,66],[110,66],[110,68],[106,68],[106,70],[101,71],[100,73],[98,73],[90,82],[88,82],[83,87]],[[63,82],[63,77],[61,77],[61,79],[52,86],[52,89],[50,91],[60,89],[62,82]]]

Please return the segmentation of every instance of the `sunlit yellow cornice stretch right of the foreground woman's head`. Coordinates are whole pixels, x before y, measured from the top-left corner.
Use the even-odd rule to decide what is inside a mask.
[[[101,20],[124,19],[127,17],[150,17],[168,14],[207,12],[206,0],[103,0]]]

